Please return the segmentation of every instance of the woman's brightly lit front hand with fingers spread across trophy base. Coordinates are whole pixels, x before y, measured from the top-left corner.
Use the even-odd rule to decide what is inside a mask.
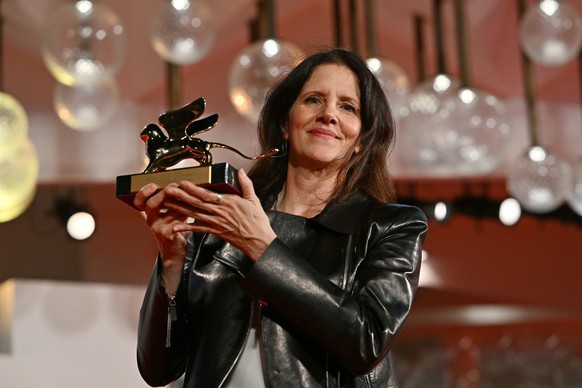
[[[188,181],[169,187],[166,191],[172,200],[163,203],[173,214],[181,215],[181,222],[168,227],[177,235],[191,231],[211,233],[257,261],[276,235],[252,181],[242,169],[238,171],[238,181],[242,196],[216,194]],[[189,217],[195,222],[183,222]]]

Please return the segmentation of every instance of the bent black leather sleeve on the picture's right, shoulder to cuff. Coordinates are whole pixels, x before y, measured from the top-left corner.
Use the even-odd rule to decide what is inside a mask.
[[[375,209],[357,232],[361,242],[353,255],[359,264],[347,290],[324,278],[279,239],[245,277],[253,293],[356,373],[376,366],[402,327],[418,285],[427,231],[426,217],[417,208]]]

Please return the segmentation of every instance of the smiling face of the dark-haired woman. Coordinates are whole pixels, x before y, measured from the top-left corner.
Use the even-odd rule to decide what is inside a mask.
[[[329,168],[349,157],[361,129],[360,90],[346,66],[313,70],[289,113],[289,163]]]

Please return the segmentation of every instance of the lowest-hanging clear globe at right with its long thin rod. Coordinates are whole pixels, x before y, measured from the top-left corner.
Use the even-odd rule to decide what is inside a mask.
[[[524,1],[518,0],[520,14],[525,10]],[[560,157],[539,144],[532,64],[525,53],[521,57],[531,145],[509,166],[507,190],[525,210],[548,213],[564,202],[570,170]]]

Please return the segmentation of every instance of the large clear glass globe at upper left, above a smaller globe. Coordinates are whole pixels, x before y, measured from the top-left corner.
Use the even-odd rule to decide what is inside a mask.
[[[42,58],[65,85],[99,82],[119,72],[125,60],[125,30],[103,4],[78,0],[49,16],[42,35]]]

